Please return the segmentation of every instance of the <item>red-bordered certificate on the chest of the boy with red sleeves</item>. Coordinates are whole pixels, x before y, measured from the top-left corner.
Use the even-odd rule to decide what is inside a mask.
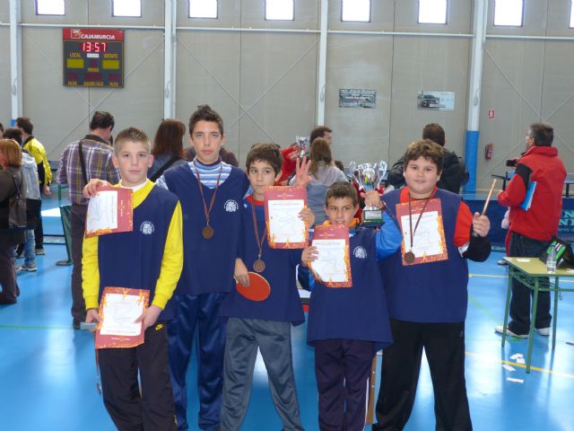
[[[401,243],[403,266],[448,259],[440,199],[430,199],[421,216],[424,204],[424,200],[411,201],[410,216],[408,203],[396,204],[396,219],[401,225],[401,232],[403,233],[403,242]],[[420,221],[419,216],[421,216]],[[418,226],[416,226],[417,221],[419,221]],[[413,243],[411,243],[412,229]],[[414,259],[411,263],[404,259],[405,254],[409,251],[412,251],[414,254]]]

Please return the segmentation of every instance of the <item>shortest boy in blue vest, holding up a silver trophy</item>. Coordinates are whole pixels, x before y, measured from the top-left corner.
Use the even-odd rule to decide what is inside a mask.
[[[380,207],[378,192],[366,193],[366,199],[373,196]],[[321,430],[364,428],[372,359],[392,343],[378,261],[396,251],[401,233],[387,213],[380,230],[357,226],[353,217],[358,209],[357,191],[350,183],[335,182],[327,189],[325,224],[349,228],[352,287],[315,281],[311,292],[307,342],[315,347]],[[301,259],[309,266],[317,259],[317,249],[306,248]]]

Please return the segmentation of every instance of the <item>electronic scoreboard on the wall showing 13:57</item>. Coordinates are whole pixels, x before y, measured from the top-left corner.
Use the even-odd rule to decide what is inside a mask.
[[[64,29],[64,85],[124,86],[124,31]]]

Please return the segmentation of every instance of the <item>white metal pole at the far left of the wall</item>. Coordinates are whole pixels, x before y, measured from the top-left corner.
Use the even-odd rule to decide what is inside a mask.
[[[10,113],[13,121],[22,115],[22,29],[19,23],[20,2],[10,0]]]

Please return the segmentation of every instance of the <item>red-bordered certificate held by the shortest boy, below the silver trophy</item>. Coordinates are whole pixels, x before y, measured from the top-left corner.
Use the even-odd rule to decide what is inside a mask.
[[[351,287],[349,228],[343,225],[318,225],[312,246],[318,258],[311,262],[310,271],[317,281],[327,287]]]

